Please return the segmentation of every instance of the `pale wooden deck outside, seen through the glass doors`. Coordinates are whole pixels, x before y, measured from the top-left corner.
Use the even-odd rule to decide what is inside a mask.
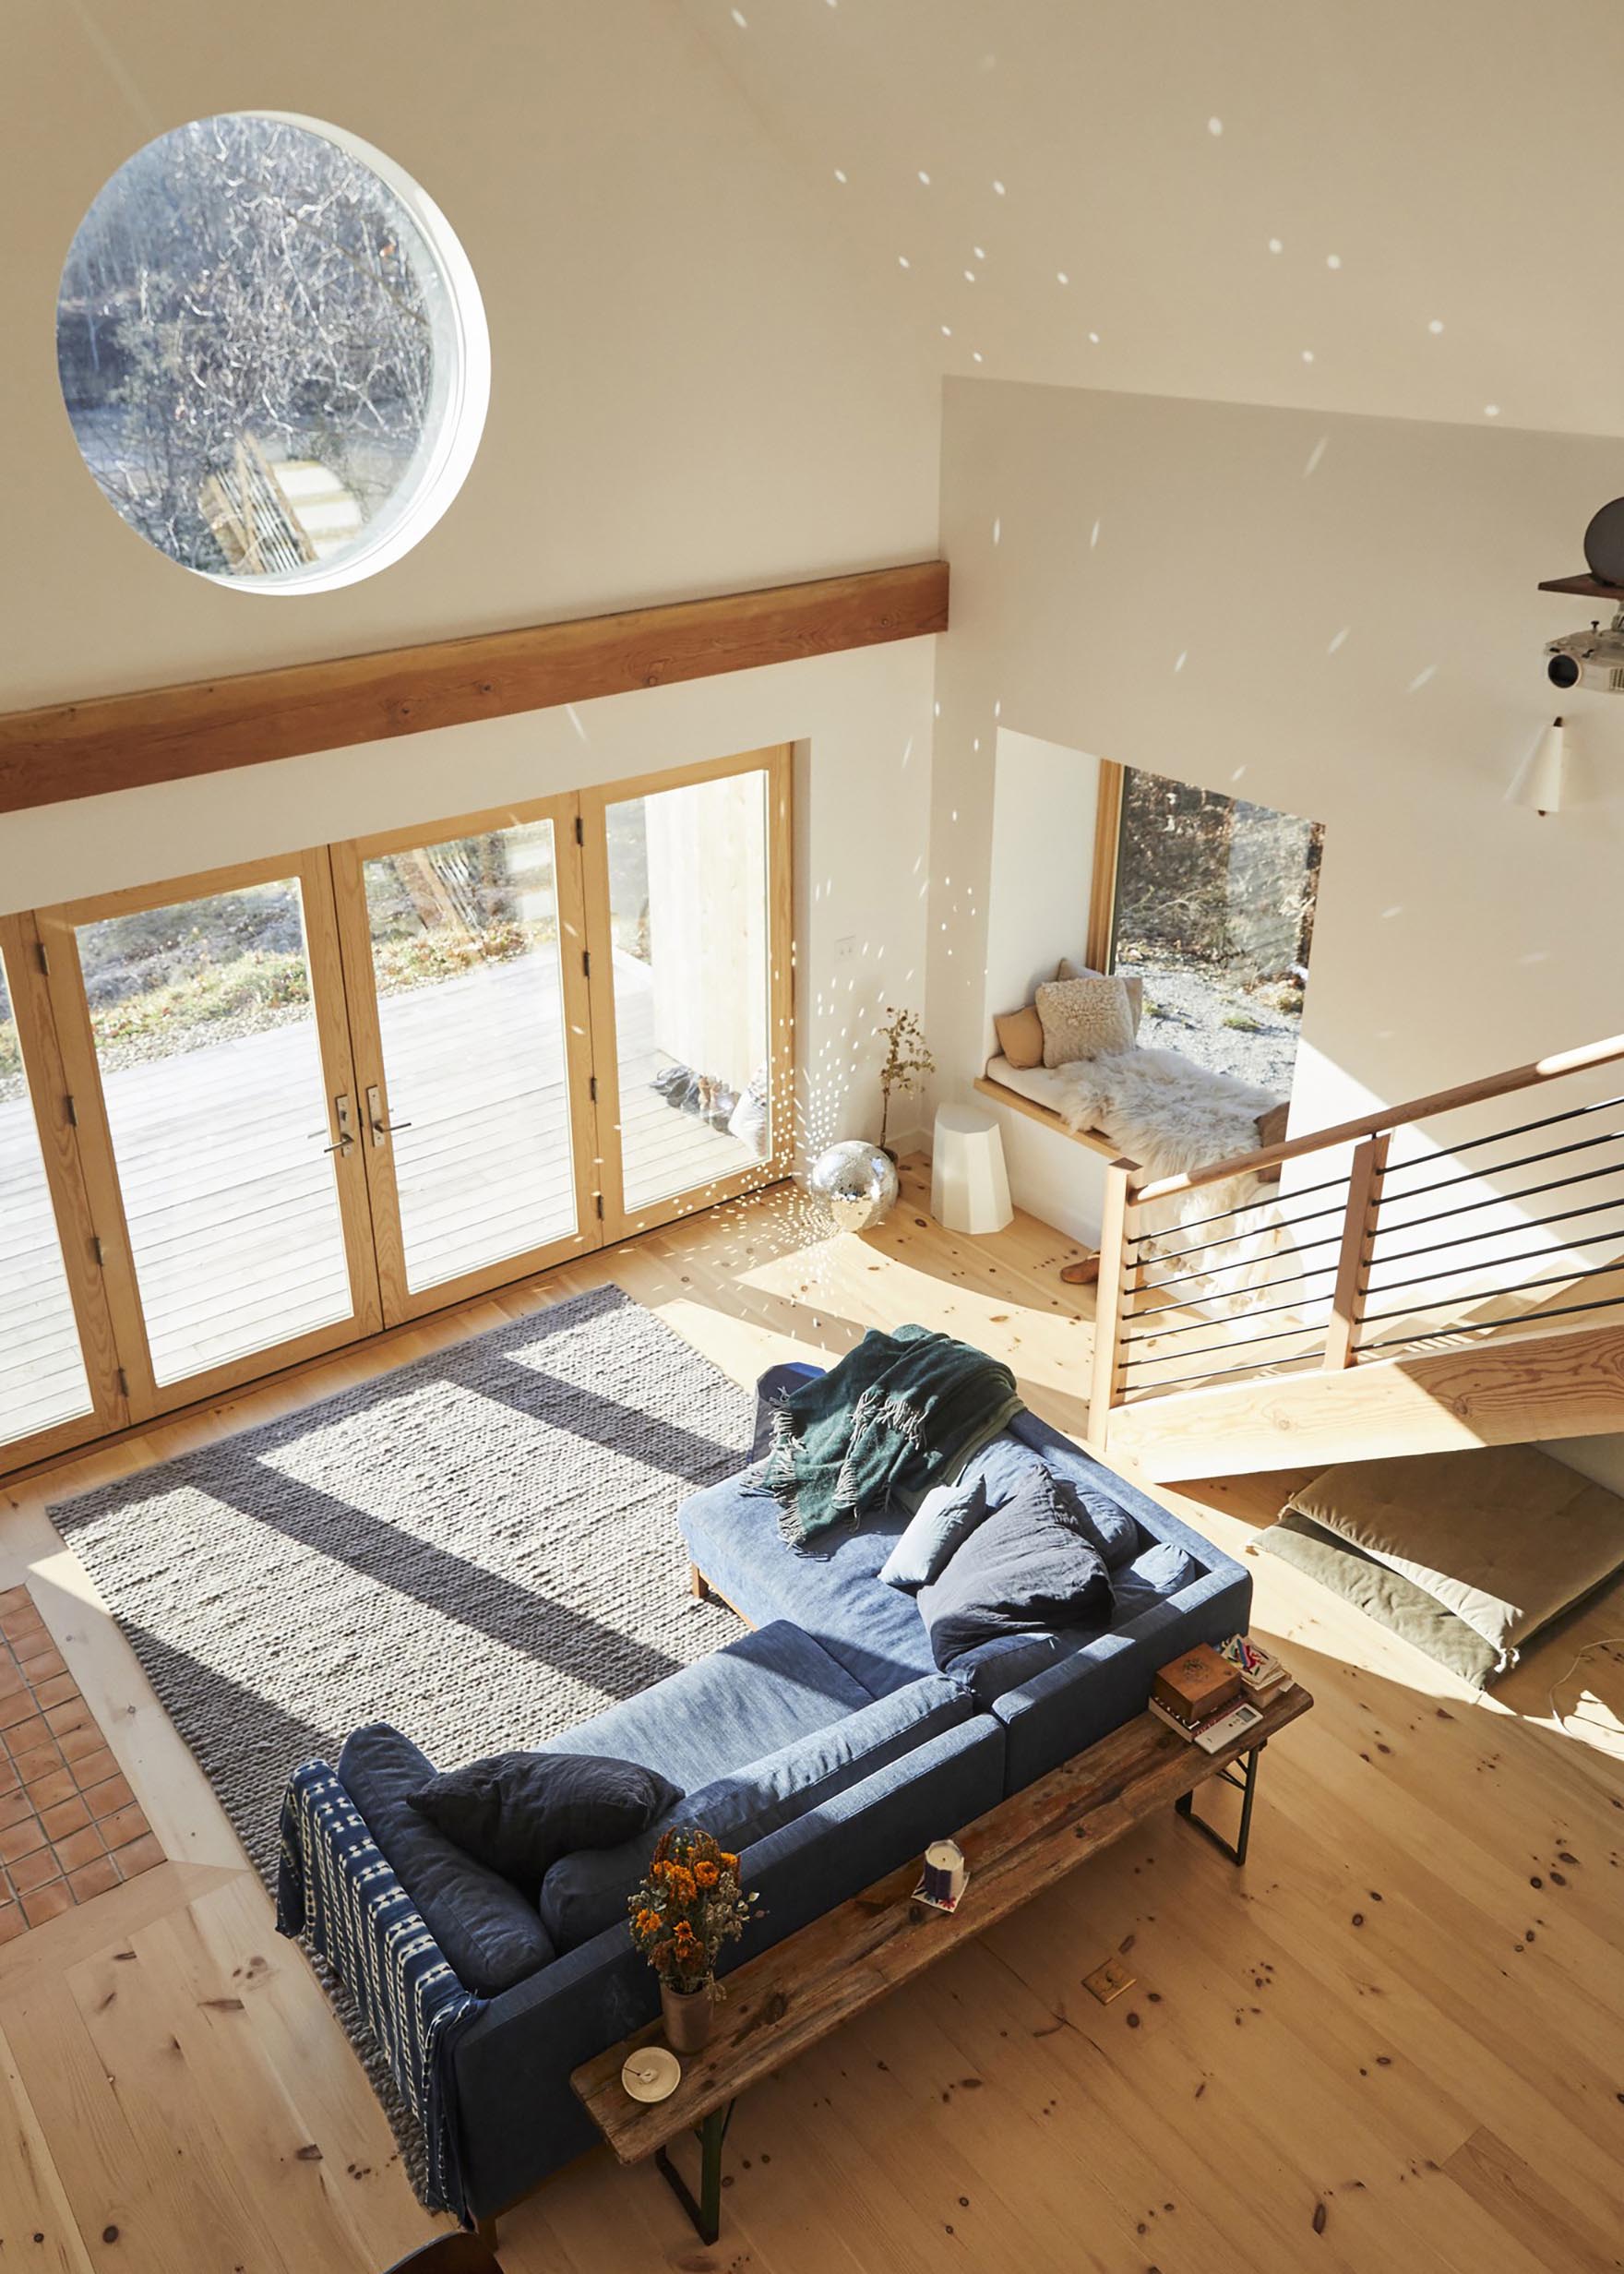
[[[753,1153],[651,1087],[666,1064],[646,966],[616,957],[630,1205]],[[414,1287],[573,1221],[557,987],[487,964],[384,998],[389,1105]],[[161,1383],[348,1317],[325,1092],[307,1021],[105,1078]],[[357,1101],[359,1107],[359,1101]],[[23,1098],[0,1105],[0,1444],[86,1412],[73,1310]]]

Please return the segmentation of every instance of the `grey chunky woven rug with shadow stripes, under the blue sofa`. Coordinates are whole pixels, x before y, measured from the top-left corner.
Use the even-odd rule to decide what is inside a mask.
[[[676,1510],[753,1401],[619,1287],[50,1510],[275,1883],[289,1769],[393,1721],[439,1767],[539,1746],[737,1630]],[[328,1983],[421,2188],[421,2140]]]

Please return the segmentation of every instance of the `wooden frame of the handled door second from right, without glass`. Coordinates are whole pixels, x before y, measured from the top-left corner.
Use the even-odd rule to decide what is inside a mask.
[[[575,1192],[575,1230],[539,1248],[521,1248],[498,1262],[434,1280],[412,1289],[405,1269],[400,1194],[393,1171],[393,1146],[375,1144],[366,1126],[366,1092],[378,1089],[382,1119],[389,1121],[389,1069],[384,1064],[373,941],[366,916],[364,864],[384,853],[414,853],[446,844],[453,837],[482,837],[489,830],[519,828],[528,821],[553,823],[553,878],[557,894],[557,957],[564,1014],[564,1094],[569,1103],[571,1185]],[[332,846],[332,894],[343,955],[343,989],[350,1005],[350,1041],[355,1055],[357,1107],[366,1182],[373,1201],[373,1239],[384,1326],[400,1326],[428,1312],[446,1310],[469,1296],[489,1294],[532,1271],[548,1271],[603,1244],[598,1217],[598,1117],[594,1105],[591,1019],[587,1010],[587,921],[580,878],[580,798],[566,791],[555,798],[530,798],[521,805],[494,805],[453,821],[421,823],[403,830],[380,830],[373,837],[350,837]]]

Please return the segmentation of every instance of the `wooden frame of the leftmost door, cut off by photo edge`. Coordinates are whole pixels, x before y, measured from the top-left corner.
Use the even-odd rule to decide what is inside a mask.
[[[0,916],[0,964],[5,964],[18,1051],[23,1053],[23,1085],[34,1117],[34,1137],[45,1171],[45,1189],[50,1192],[57,1246],[68,1280],[68,1301],[73,1303],[80,1358],[91,1396],[86,1414],[55,1421],[43,1430],[30,1430],[27,1437],[9,1437],[0,1446],[0,1460],[11,1469],[34,1460],[50,1460],[55,1453],[66,1453],[73,1446],[89,1444],[93,1437],[127,1428],[130,1403],[121,1385],[118,1344],[114,1339],[107,1287],[96,1253],[91,1201],[84,1189],[84,1169],[80,1162],[80,1132],[68,1117],[68,1080],[61,1071],[57,1026],[45,985],[45,957],[32,914]]]

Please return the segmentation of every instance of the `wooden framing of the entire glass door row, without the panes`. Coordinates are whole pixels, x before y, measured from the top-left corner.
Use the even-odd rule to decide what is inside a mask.
[[[769,1105],[773,1153],[735,1176],[673,1194],[635,1217],[621,1196],[619,1060],[614,1028],[614,955],[610,939],[610,880],[605,807],[662,789],[723,780],[737,773],[767,775],[767,951],[769,951]],[[587,816],[591,825],[587,825]],[[566,1255],[607,1239],[630,1237],[741,1198],[794,1171],[794,746],[741,750],[730,757],[671,766],[621,782],[519,800],[446,821],[414,823],[378,837],[337,846],[202,869],[152,885],[64,901],[25,914],[0,916],[0,948],[18,1021],[34,1128],[45,1162],[50,1198],[61,1244],[68,1292],[80,1326],[80,1348],[91,1385],[93,1412],[57,1428],[0,1446],[0,1474],[36,1467],[80,1444],[107,1439],[141,1424],[196,1408],[248,1383],[268,1380],[289,1367],[323,1358],[346,1344],[384,1330],[380,1255],[387,1212],[373,1207],[366,1164],[364,1098],[373,1073],[384,1098],[387,1078],[375,1032],[371,994],[371,930],[359,864],[378,850],[439,844],[532,819],[553,819],[555,875],[560,894],[560,971],[564,985],[569,1048],[571,1148],[580,1230],[557,1248],[503,1258],[482,1271],[444,1280],[405,1296],[403,1323],[444,1312],[471,1296],[530,1278]],[[575,828],[575,821],[582,828]],[[587,839],[582,848],[582,837]],[[355,1114],[355,1146],[339,1155],[337,1194],[350,1271],[353,1312],[325,1328],[268,1344],[243,1358],[187,1373],[175,1383],[152,1376],[152,1358],[141,1314],[130,1226],[118,1185],[118,1164],[107,1121],[100,1064],[75,926],[136,914],[184,901],[291,878],[300,885],[309,955],[312,1005],[321,1067],[328,1082],[328,1135],[337,1139],[334,1096],[348,1092]],[[580,953],[575,953],[580,951]],[[596,987],[587,962],[598,957]],[[357,957],[366,987],[357,987]],[[357,1007],[359,1005],[359,1007]],[[371,1026],[368,1026],[371,1005]],[[594,1101],[596,1089],[596,1101]],[[398,1226],[398,1214],[393,1217]],[[389,1260],[382,1264],[389,1273]],[[396,1292],[405,1289],[398,1271]]]

